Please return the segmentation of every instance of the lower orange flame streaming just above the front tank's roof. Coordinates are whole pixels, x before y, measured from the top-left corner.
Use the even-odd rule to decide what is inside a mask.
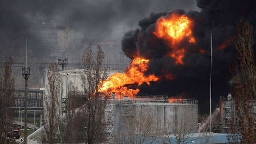
[[[150,84],[150,81],[157,81],[159,78],[155,75],[144,75],[148,69],[149,60],[142,58],[135,58],[127,67],[125,73],[115,73],[109,77],[108,80],[103,82],[102,92],[111,90],[121,96],[135,96],[139,89],[129,89],[125,85],[142,83]]]

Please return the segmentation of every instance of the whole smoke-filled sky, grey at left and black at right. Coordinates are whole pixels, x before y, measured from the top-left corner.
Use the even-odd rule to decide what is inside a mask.
[[[83,41],[122,40],[122,50],[129,58],[150,59],[147,74],[172,73],[176,79],[141,85],[142,94],[181,95],[190,98],[207,98],[210,89],[211,23],[213,22],[212,85],[213,96],[227,95],[230,91],[228,67],[235,60],[232,37],[242,17],[256,25],[255,0],[1,0],[0,50],[1,55],[19,55],[28,35],[26,26],[36,20],[51,20],[55,26],[74,27],[75,44]],[[164,41],[152,48],[151,32],[161,16],[178,12],[194,20],[193,34],[196,43],[189,45],[183,58],[184,65],[173,64],[165,57]],[[138,35],[146,41],[140,41]],[[220,49],[221,45],[226,48]],[[187,45],[186,42],[183,43]],[[205,53],[196,52],[204,49]],[[161,71],[160,69],[165,69]]]

